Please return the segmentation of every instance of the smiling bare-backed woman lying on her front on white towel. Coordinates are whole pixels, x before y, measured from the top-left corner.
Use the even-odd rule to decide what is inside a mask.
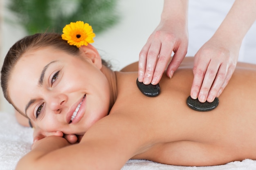
[[[70,46],[55,33],[18,41],[3,64],[4,96],[42,130],[83,138],[70,144],[45,137],[17,170],[118,170],[128,159],[181,166],[256,159],[256,65],[238,63],[209,112],[186,105],[192,67],[186,58],[172,79],[163,75],[160,95],[147,97],[137,88],[136,71],[111,71],[90,44]]]

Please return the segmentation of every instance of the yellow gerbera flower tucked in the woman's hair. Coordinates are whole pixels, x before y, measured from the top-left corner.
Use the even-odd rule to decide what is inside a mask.
[[[67,43],[70,45],[77,46],[78,48],[94,42],[93,38],[95,34],[93,33],[92,26],[83,21],[70,22],[70,24],[63,28],[62,32],[61,38],[67,40]]]

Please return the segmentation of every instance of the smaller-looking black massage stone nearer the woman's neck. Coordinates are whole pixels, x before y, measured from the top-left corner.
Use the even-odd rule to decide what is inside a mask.
[[[143,82],[139,82],[138,79],[137,79],[136,83],[137,83],[137,86],[138,86],[139,90],[141,91],[141,93],[143,93],[144,95],[146,95],[148,97],[155,97],[155,96],[160,94],[159,84],[157,84],[157,85],[153,85],[153,84],[145,85],[145,84],[143,84]]]

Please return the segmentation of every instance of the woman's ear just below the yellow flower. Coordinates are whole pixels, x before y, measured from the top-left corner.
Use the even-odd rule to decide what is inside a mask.
[[[97,68],[101,69],[101,56],[99,55],[97,49],[94,48],[94,46],[88,44],[87,46],[81,46],[79,49],[83,57],[90,59],[92,63],[95,64],[95,66],[97,66]]]

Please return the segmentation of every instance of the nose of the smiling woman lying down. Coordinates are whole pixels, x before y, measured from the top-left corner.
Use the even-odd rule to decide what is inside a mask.
[[[60,113],[63,106],[65,105],[65,102],[67,101],[67,96],[64,94],[52,95],[49,97],[48,101],[48,106],[50,107],[50,109],[53,110],[55,113]]]

